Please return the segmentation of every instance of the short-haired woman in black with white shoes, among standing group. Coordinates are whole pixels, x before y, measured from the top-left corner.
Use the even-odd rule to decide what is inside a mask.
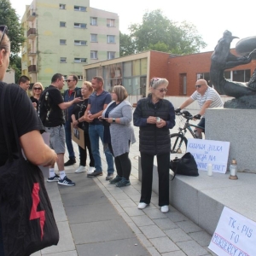
[[[86,159],[87,159],[87,151],[86,148],[88,148],[88,152],[90,155],[90,167],[87,172],[87,174],[90,174],[94,172],[94,158],[91,152],[90,148],[90,137],[89,137],[89,124],[84,121],[84,112],[88,105],[88,99],[90,94],[92,93],[93,89],[91,86],[91,83],[88,81],[85,81],[81,87],[81,94],[83,98],[83,102],[79,102],[78,104],[74,105],[73,107],[73,114],[71,116],[72,123],[74,128],[80,128],[84,131],[84,148],[79,146],[79,157],[80,157],[80,164],[79,168],[75,171],[75,173],[79,172],[85,172],[85,166],[86,166]]]

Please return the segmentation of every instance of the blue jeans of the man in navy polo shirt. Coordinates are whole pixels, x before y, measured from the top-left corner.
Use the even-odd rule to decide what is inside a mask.
[[[103,143],[103,133],[104,133],[104,126],[103,125],[89,125],[89,136],[90,136],[90,147],[93,158],[95,160],[95,168],[96,171],[102,172],[102,160],[100,154],[100,146],[99,140]],[[113,155],[111,154],[109,148],[106,148],[104,151],[106,155],[106,160],[108,163],[108,174],[114,172],[113,170]]]

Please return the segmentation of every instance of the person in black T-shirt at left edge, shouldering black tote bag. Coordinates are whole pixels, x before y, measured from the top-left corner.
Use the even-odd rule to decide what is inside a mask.
[[[7,26],[0,26],[0,96],[2,95],[4,86],[11,86],[11,95],[13,97],[12,102],[9,102],[8,99],[6,99],[5,106],[12,104],[12,108],[14,109],[16,129],[18,131],[20,145],[21,148],[23,148],[24,154],[26,155],[26,159],[37,166],[54,165],[55,161],[57,160],[57,155],[55,154],[54,150],[50,149],[44,143],[43,137],[40,134],[44,131],[44,126],[42,125],[40,119],[38,119],[38,115],[32,106],[32,102],[26,95],[26,91],[21,89],[17,84],[3,83],[4,75],[9,67],[10,55],[10,41],[6,32]],[[6,122],[9,126],[9,137],[12,138],[10,142],[12,152],[15,153],[17,152],[18,148],[16,147],[15,133],[13,131],[13,126],[11,125],[11,119],[7,119]],[[3,166],[8,159],[8,149],[3,136],[3,123],[2,118],[0,118],[0,166]],[[12,183],[10,183],[9,186],[12,187]],[[13,214],[13,212],[9,212],[9,214]],[[14,238],[9,237],[9,239]],[[4,256],[1,221],[0,255]]]

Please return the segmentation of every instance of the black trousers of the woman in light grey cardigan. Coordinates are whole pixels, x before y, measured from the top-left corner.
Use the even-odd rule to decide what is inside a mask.
[[[131,142],[129,141],[129,145],[130,143]],[[108,148],[111,154],[113,154],[112,144],[108,143]],[[129,158],[129,152],[114,157],[114,164],[118,176],[125,177],[125,179],[129,180],[131,174],[131,160]]]

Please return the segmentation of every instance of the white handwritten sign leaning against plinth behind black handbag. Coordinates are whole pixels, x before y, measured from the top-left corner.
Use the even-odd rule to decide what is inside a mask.
[[[227,170],[229,142],[212,140],[188,140],[187,152],[193,154],[199,170],[207,171],[209,163],[212,164],[212,172],[225,173]]]

